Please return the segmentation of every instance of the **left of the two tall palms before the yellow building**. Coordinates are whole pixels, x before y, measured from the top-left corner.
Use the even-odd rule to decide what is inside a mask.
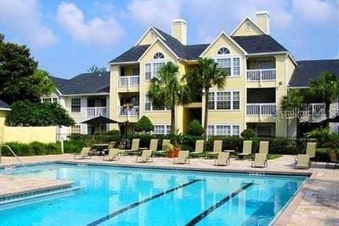
[[[150,80],[148,97],[157,106],[166,106],[171,109],[171,131],[175,128],[175,107],[189,103],[189,86],[179,78],[179,67],[168,61],[162,66],[158,75]]]

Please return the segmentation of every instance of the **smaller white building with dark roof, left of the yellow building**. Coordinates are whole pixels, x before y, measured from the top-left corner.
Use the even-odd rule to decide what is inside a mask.
[[[109,72],[81,73],[69,80],[52,79],[57,90],[48,97],[42,97],[42,102],[59,102],[76,121],[76,125],[71,128],[62,126],[59,134],[92,134],[98,130],[99,128],[81,122],[100,115],[109,116]]]

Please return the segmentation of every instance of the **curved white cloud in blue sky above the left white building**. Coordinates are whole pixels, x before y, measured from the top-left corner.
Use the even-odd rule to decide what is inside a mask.
[[[59,4],[57,21],[74,40],[95,46],[114,44],[124,33],[112,16],[107,20],[95,17],[86,22],[83,11],[67,2]]]

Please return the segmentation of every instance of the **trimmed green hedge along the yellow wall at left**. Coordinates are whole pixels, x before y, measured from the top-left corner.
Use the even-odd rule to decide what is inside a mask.
[[[61,144],[58,143],[5,143],[10,146],[14,153],[18,156],[32,156],[32,155],[59,155],[61,154]],[[13,156],[8,148],[1,148],[1,155]]]

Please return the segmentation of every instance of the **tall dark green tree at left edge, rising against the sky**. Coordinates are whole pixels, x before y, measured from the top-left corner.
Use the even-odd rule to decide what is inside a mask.
[[[0,35],[0,98],[8,104],[16,100],[40,100],[54,90],[54,83],[45,71],[37,70],[30,49],[4,42]]]

